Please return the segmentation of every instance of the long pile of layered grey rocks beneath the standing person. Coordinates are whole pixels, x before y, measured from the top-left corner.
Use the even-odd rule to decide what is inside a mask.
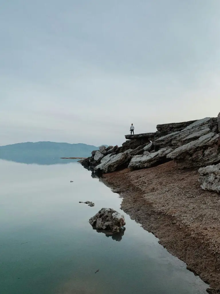
[[[220,161],[218,118],[168,123],[157,126],[158,131],[125,135],[119,146],[100,146],[82,165],[97,173],[109,173],[128,167],[149,168],[174,160],[178,168],[194,168]],[[169,151],[169,152],[168,152]]]

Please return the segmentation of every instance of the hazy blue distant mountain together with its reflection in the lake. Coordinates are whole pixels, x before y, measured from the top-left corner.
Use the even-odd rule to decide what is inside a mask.
[[[0,159],[37,164],[67,163],[73,160],[65,161],[60,157],[88,157],[98,149],[83,143],[25,142],[0,146]]]

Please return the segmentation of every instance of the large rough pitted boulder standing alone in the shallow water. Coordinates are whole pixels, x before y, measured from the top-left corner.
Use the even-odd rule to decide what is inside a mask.
[[[124,230],[124,216],[112,208],[102,208],[96,215],[89,219],[90,225],[97,230],[111,230],[117,233]]]

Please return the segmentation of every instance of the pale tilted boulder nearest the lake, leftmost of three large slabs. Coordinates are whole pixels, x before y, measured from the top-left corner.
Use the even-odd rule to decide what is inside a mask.
[[[128,153],[119,153],[112,155],[104,162],[97,165],[94,170],[101,173],[111,173],[119,169],[121,166],[128,166],[130,160],[131,156]]]

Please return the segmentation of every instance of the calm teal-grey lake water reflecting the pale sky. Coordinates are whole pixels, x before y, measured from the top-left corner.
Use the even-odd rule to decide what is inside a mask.
[[[92,229],[89,218],[102,207],[121,212],[121,198],[79,163],[0,160],[0,175],[0,293],[207,293],[126,213],[121,240]],[[95,206],[79,203],[87,200]]]

